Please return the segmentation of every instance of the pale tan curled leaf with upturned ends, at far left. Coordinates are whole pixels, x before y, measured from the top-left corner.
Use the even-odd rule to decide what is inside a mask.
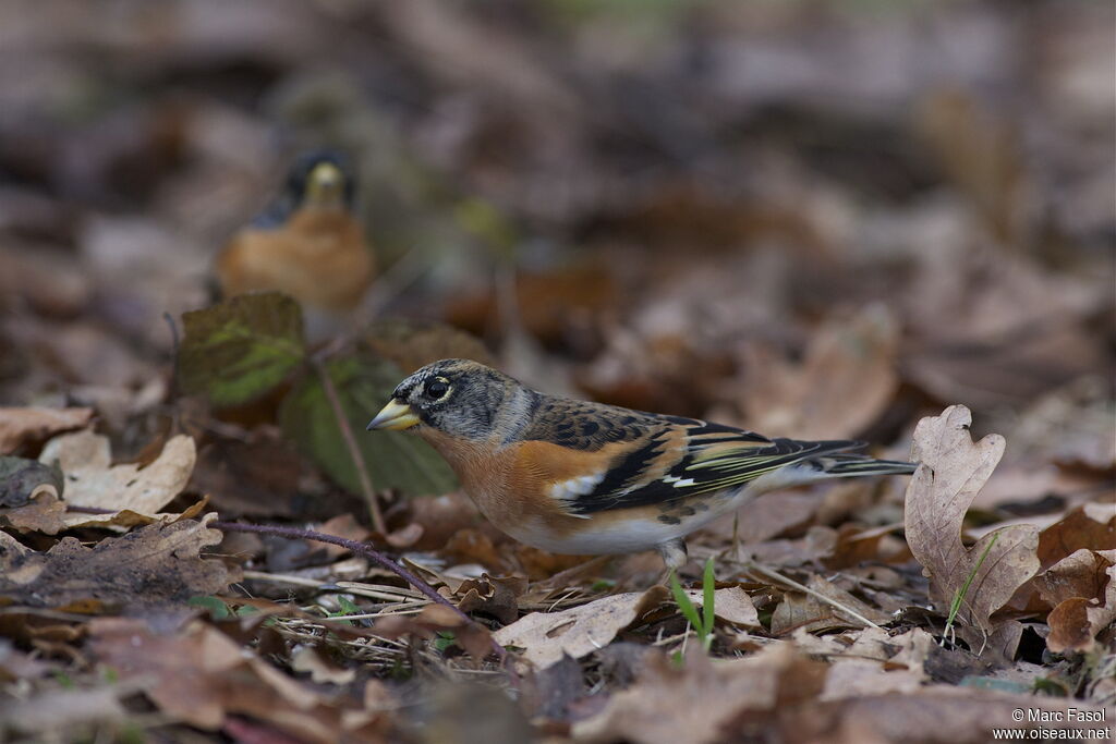
[[[67,525],[75,526],[109,524],[125,510],[155,516],[186,486],[195,456],[194,441],[180,434],[163,446],[154,462],[142,468],[135,464],[113,466],[108,437],[86,429],[52,438],[42,448],[39,461],[61,467],[67,504],[114,512],[67,514]]]

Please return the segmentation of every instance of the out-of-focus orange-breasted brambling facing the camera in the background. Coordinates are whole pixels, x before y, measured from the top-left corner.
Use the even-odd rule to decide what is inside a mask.
[[[353,213],[355,196],[356,181],[344,157],[329,152],[300,157],[283,192],[218,257],[222,294],[279,290],[307,310],[352,311],[375,268]]]

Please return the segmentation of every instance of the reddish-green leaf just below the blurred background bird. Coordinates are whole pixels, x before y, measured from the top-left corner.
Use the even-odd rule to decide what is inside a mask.
[[[267,394],[306,357],[302,310],[279,292],[244,294],[182,316],[179,384],[218,408]]]

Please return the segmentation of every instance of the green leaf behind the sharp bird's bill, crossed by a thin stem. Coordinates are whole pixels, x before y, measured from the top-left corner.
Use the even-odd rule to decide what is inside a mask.
[[[406,432],[365,432],[404,375],[367,351],[326,364],[374,489],[405,495],[439,495],[458,487],[453,471],[430,445]],[[360,492],[356,465],[318,375],[306,375],[283,399],[279,423],[288,437],[334,481]]]

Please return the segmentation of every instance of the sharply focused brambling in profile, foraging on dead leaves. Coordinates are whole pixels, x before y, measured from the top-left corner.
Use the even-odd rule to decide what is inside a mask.
[[[768,491],[856,475],[911,474],[860,442],[799,442],[529,389],[475,361],[404,379],[368,429],[411,429],[445,457],[497,528],[558,553],[656,549]]]

